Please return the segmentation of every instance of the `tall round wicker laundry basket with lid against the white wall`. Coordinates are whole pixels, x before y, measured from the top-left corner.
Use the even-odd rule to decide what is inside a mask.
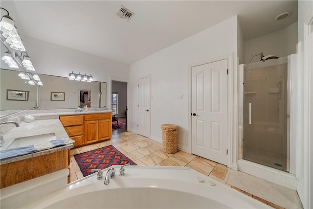
[[[162,142],[163,152],[176,153],[177,152],[177,135],[178,127],[175,124],[163,124],[162,129]]]

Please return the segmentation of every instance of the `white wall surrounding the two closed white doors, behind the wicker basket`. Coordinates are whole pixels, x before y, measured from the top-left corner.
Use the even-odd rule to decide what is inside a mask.
[[[179,126],[178,147],[187,150],[189,65],[230,53],[237,57],[236,16],[133,63],[131,131],[137,132],[138,79],[151,74],[151,138],[161,140],[161,124],[174,123]],[[237,66],[237,58],[233,65]]]

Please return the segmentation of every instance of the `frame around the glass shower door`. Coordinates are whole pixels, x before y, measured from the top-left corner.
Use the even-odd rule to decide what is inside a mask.
[[[279,60],[280,59],[280,60]],[[287,160],[287,172],[286,171],[281,171],[279,169],[276,168],[272,168],[272,167],[268,167],[266,165],[262,165],[259,163],[254,163],[251,161],[247,161],[245,159],[243,159],[243,154],[244,154],[244,144],[243,144],[243,139],[244,139],[244,64],[239,65],[239,95],[238,95],[238,99],[239,99],[239,105],[238,105],[238,160],[241,161],[245,161],[248,162],[249,164],[255,164],[258,167],[265,167],[266,169],[273,169],[274,171],[278,171],[278,172],[284,172],[284,173],[290,173],[290,174],[295,174],[295,165],[296,165],[296,148],[293,147],[293,145],[295,144],[295,139],[290,138],[290,105],[291,105],[291,100],[290,100],[290,90],[291,90],[291,70],[290,70],[290,56],[288,57],[281,57],[279,58],[277,61],[276,60],[271,60],[271,61],[267,61],[267,63],[265,63],[265,66],[262,67],[266,67],[266,66],[271,66],[271,65],[277,65],[277,64],[283,64],[283,63],[287,63],[287,159],[289,159],[289,161]],[[276,63],[276,62],[277,63]],[[286,62],[287,61],[287,62]],[[261,63],[261,62],[259,62]],[[263,63],[263,62],[262,62]],[[255,68],[253,67],[253,65],[255,65],[255,63],[251,63],[251,65],[249,66],[249,68]],[[238,163],[238,162],[237,162]],[[239,167],[239,166],[238,166]],[[253,174],[252,174],[253,175]],[[261,177],[260,177],[261,178]]]

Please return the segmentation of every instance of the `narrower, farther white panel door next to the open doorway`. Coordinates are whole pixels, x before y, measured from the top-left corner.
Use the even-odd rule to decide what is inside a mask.
[[[138,81],[138,134],[150,137],[151,87],[150,77]]]

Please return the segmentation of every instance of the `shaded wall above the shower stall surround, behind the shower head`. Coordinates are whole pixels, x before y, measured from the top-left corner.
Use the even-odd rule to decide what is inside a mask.
[[[245,42],[245,63],[248,63],[252,55],[263,52],[264,56],[269,54],[285,57],[295,53],[295,46],[298,43],[298,22],[288,27],[247,40]],[[260,57],[256,56],[251,62],[260,61]]]

